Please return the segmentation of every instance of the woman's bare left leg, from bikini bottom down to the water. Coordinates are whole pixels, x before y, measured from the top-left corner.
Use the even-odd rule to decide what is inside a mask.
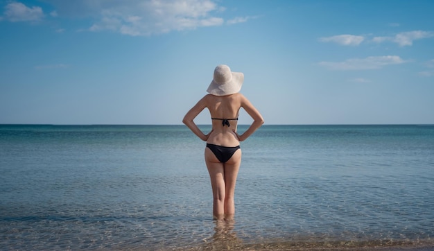
[[[217,220],[225,218],[225,171],[223,163],[216,155],[205,148],[205,163],[207,164],[213,194],[213,216]]]

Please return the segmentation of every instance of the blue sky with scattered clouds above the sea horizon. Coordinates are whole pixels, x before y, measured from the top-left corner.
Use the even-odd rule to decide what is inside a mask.
[[[267,124],[434,124],[433,10],[431,0],[0,0],[0,123],[180,124],[228,64]]]

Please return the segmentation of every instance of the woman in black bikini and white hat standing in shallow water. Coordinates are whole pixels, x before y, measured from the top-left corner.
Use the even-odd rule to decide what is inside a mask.
[[[240,141],[247,139],[263,124],[258,110],[243,94],[238,93],[243,85],[244,74],[232,72],[227,65],[218,65],[214,69],[214,78],[206,96],[187,112],[182,122],[203,141],[205,162],[214,197],[213,216],[217,220],[231,220],[235,214],[234,192],[236,176],[241,164]],[[243,109],[254,120],[242,135],[236,132],[238,114]],[[193,119],[208,108],[211,114],[212,129],[205,135]]]

